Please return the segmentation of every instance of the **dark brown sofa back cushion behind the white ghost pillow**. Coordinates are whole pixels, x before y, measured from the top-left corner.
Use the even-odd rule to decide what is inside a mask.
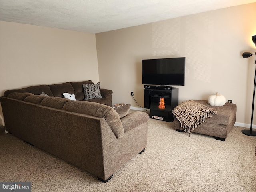
[[[75,94],[75,91],[70,83],[60,83],[49,85],[54,97],[64,97],[63,93]],[[75,97],[77,98],[76,94]]]

